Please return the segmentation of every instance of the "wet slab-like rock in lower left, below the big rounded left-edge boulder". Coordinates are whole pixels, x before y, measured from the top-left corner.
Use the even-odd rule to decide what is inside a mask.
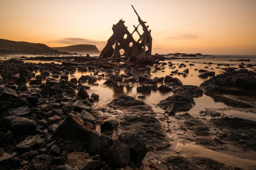
[[[29,136],[22,142],[16,145],[16,149],[19,153],[28,152],[30,150],[38,149],[43,144],[43,140],[39,135]]]

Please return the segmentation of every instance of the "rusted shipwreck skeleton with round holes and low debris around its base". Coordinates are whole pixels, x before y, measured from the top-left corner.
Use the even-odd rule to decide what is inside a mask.
[[[63,64],[71,65],[76,62],[90,62],[90,64],[99,64],[105,67],[122,67],[125,65],[152,65],[159,64],[159,61],[164,61],[165,57],[159,54],[152,55],[152,37],[151,30],[148,30],[149,26],[146,26],[146,22],[142,21],[137,11],[132,6],[135,14],[138,16],[139,24],[137,27],[133,25],[134,31],[130,33],[125,26],[125,21],[119,20],[117,24],[113,24],[112,36],[107,40],[106,46],[101,51],[99,57],[77,57],[71,61],[60,61]],[[138,27],[142,26],[143,33],[139,33]],[[138,33],[139,39],[136,41],[133,38],[134,33]],[[121,55],[120,50],[124,53]]]

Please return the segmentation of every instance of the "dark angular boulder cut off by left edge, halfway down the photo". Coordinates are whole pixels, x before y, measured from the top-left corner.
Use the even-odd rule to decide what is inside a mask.
[[[7,88],[7,87],[0,88],[1,101],[17,102],[18,97],[19,96],[15,90]]]

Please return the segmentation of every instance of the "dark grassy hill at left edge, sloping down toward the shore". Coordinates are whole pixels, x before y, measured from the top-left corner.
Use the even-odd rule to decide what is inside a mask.
[[[66,54],[41,43],[0,39],[0,54]]]

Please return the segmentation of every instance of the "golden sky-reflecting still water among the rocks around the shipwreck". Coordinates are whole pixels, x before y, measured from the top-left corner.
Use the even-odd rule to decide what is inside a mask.
[[[239,57],[238,57],[239,58]],[[238,58],[232,58],[232,59],[238,59]],[[241,58],[241,57],[240,57]],[[189,73],[186,74],[186,77],[182,76],[182,74],[178,75],[178,74],[173,74],[173,77],[177,77],[178,79],[180,79],[183,83],[183,85],[196,85],[199,86],[203,81],[207,80],[207,79],[202,79],[200,77],[198,77],[198,75],[200,74],[198,72],[199,69],[206,69],[208,71],[214,71],[215,75],[220,74],[221,72],[223,72],[223,69],[221,68],[227,68],[228,66],[217,66],[217,63],[225,63],[225,64],[230,64],[229,67],[237,67],[238,68],[238,64],[240,64],[241,62],[234,62],[234,61],[228,61],[230,58],[224,58],[221,56],[216,56],[216,58],[205,58],[205,59],[196,59],[196,60],[189,60],[189,59],[182,59],[182,60],[166,60],[165,62],[172,62],[173,66],[175,66],[176,68],[170,68],[168,65],[162,66],[162,65],[154,65],[151,67],[151,72],[146,72],[146,71],[136,71],[133,72],[134,75],[140,75],[140,74],[151,74],[151,78],[153,77],[165,77],[166,75],[170,75],[171,71],[175,71],[178,70],[178,72],[183,72],[186,68],[189,69]],[[25,62],[34,62],[34,63],[50,63],[53,61],[34,61],[34,60],[24,60]],[[188,62],[187,62],[188,61]],[[206,64],[212,62],[214,64]],[[54,62],[54,63],[58,63],[58,62]],[[184,63],[186,64],[186,67],[182,67],[182,68],[178,68],[179,64]],[[189,66],[190,63],[193,63],[194,66]],[[244,62],[245,64],[254,64],[256,63],[256,60],[253,59],[251,60],[251,62]],[[61,64],[61,63],[58,63]],[[233,65],[232,65],[233,64]],[[158,70],[157,72],[152,72],[154,70],[154,67],[160,67],[162,68],[161,70]],[[216,68],[218,67],[218,68]],[[198,69],[198,70],[195,70]],[[250,69],[250,68],[247,68]],[[251,69],[253,70],[253,69]],[[120,70],[119,72],[115,72],[113,74],[115,75],[121,75],[123,73],[125,73],[125,70]],[[106,72],[99,72],[99,74],[104,73],[105,75],[109,75],[112,73],[106,73]],[[36,75],[40,75],[40,72],[35,72]],[[77,79],[79,79],[82,75],[93,75],[93,72],[80,72],[80,71],[76,71],[73,74],[69,74],[69,80],[71,78],[76,77]],[[96,75],[97,77],[98,75]],[[50,75],[51,77],[51,75]],[[115,88],[110,88],[106,85],[103,85],[103,83],[105,82],[106,78],[108,78],[107,76],[104,77],[104,79],[102,80],[98,80],[96,83],[98,83],[98,85],[91,85],[88,83],[83,83],[83,85],[87,85],[90,86],[90,89],[87,90],[87,92],[90,94],[92,93],[96,93],[98,94],[99,97],[99,101],[94,102],[95,105],[97,104],[106,104],[111,102],[114,98],[117,98],[121,95],[129,95],[132,96],[136,99],[138,99],[138,95],[144,95],[146,98],[143,98],[141,100],[143,100],[145,103],[153,106],[153,109],[157,112],[164,112],[162,109],[157,108],[157,106],[155,104],[157,104],[159,101],[173,95],[173,92],[166,92],[166,93],[162,93],[161,91],[157,90],[157,91],[151,91],[151,93],[139,93],[137,92],[136,88],[138,86],[141,86],[141,84],[139,83],[131,83],[131,82],[119,82],[119,86],[120,87],[115,87]],[[210,77],[208,77],[210,78]],[[35,78],[33,78],[35,79]],[[46,80],[42,80],[42,82],[45,82]],[[163,82],[164,83],[164,82]],[[125,86],[129,84],[129,86]],[[162,83],[158,83],[158,86],[160,86]],[[27,85],[29,85],[29,82],[27,82]],[[211,108],[220,108],[220,107],[225,107],[226,105],[223,104],[222,102],[214,102],[214,100],[206,95],[203,95],[202,97],[199,98],[194,98],[195,101],[195,106],[193,108],[191,108],[188,112],[190,112],[191,114],[198,114],[199,111],[203,110],[205,107],[211,107]],[[177,112],[177,114],[181,114],[184,112]]]

